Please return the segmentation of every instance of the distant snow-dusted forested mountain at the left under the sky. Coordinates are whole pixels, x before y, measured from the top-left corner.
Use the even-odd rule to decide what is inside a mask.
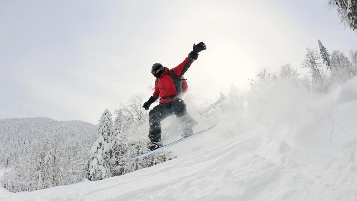
[[[57,136],[72,151],[78,144],[93,144],[96,125],[83,121],[54,121],[46,117],[10,118],[0,120],[0,164],[8,165],[24,150],[28,141],[29,150],[42,147],[47,138]]]

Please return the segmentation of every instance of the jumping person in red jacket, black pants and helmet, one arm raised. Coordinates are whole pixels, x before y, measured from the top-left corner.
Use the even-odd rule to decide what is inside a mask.
[[[186,104],[180,98],[182,89],[187,90],[187,83],[182,80],[182,75],[186,73],[192,62],[198,57],[198,53],[206,50],[204,42],[197,45],[193,44],[193,50],[188,57],[177,67],[169,68],[162,66],[160,63],[153,64],[151,73],[156,77],[155,91],[153,96],[144,103],[143,108],[149,109],[160,97],[160,104],[155,106],[149,112],[149,149],[154,150],[162,146],[161,144],[161,121],[166,117],[175,114],[184,125],[184,136],[193,134],[192,127],[196,124],[195,120],[187,113]],[[181,83],[182,82],[182,83]]]

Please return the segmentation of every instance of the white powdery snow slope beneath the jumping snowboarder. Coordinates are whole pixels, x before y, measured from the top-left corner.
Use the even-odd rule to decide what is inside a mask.
[[[250,101],[256,104],[254,118],[264,121],[243,133],[237,130],[249,126],[226,116],[213,130],[172,146],[178,157],[171,161],[34,192],[0,188],[0,200],[357,200],[357,78],[318,99],[279,91],[257,95],[278,102],[264,111],[261,102]]]

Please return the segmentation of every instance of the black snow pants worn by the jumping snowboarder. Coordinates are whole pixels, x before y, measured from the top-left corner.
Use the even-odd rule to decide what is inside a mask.
[[[149,139],[151,142],[161,141],[161,121],[175,114],[180,118],[187,114],[186,104],[182,99],[176,98],[169,103],[160,103],[149,112]]]

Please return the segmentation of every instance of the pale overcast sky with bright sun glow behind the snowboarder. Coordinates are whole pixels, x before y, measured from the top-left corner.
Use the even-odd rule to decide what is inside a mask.
[[[147,98],[153,63],[173,68],[204,41],[185,74],[198,99],[259,68],[299,69],[321,40],[346,55],[357,37],[327,0],[0,0],[0,119],[97,124],[131,95]]]

